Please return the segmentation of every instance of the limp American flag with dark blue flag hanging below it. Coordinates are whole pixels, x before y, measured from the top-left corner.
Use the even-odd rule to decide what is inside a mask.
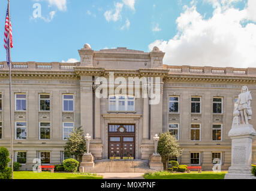
[[[9,33],[9,27],[10,27],[10,33]],[[6,19],[5,19],[5,27],[4,27],[4,48],[6,50],[8,66],[10,65],[9,41],[11,41],[10,45],[11,45],[11,48],[13,48],[13,34],[11,33],[11,20],[9,18],[9,3],[8,3]]]

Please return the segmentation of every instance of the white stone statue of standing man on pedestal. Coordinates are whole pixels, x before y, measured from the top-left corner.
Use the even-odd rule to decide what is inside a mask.
[[[252,96],[251,92],[248,91],[247,86],[242,87],[242,92],[239,94],[237,104],[240,112],[240,118],[243,124],[249,124],[249,120],[252,119],[252,108],[251,108]]]

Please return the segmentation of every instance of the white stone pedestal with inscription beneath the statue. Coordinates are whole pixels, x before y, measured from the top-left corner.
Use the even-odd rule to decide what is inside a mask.
[[[233,125],[228,133],[232,140],[231,167],[225,179],[256,179],[251,173],[252,139],[256,132],[252,125]]]

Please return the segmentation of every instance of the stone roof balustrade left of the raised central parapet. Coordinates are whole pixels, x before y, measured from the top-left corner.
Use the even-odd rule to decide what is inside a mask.
[[[41,62],[13,62],[13,70],[73,70],[75,66],[80,66],[80,63],[41,63]],[[8,70],[6,61],[0,62],[0,70]]]

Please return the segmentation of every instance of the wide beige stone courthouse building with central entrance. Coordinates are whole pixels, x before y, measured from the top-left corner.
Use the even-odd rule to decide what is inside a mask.
[[[73,128],[92,136],[95,159],[147,160],[154,152],[153,136],[170,131],[176,135],[180,164],[213,167],[219,158],[222,169],[231,165],[234,102],[247,85],[256,115],[256,68],[172,66],[162,63],[165,53],[116,48],[79,50],[79,63],[14,62],[11,109],[14,158],[22,170],[32,170],[33,160],[61,164],[70,158],[64,145]],[[184,55],[185,56],[185,55]],[[243,63],[241,63],[242,66]],[[135,95],[95,96],[98,76],[159,77],[160,101]],[[139,88],[142,93],[143,87]],[[135,91],[134,91],[135,92]],[[0,147],[10,149],[8,66],[0,62]],[[256,117],[250,121],[256,127]],[[173,158],[176,159],[176,158]],[[256,141],[252,149],[256,163]]]

